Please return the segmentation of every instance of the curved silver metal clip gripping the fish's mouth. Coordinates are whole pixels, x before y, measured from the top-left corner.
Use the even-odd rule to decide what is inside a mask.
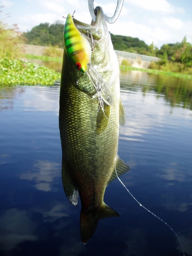
[[[124,0],[117,0],[117,7],[115,9],[115,13],[113,15],[113,17],[109,17],[108,15],[105,14],[105,19],[108,23],[114,23],[116,21],[116,19],[118,18],[121,9],[123,7],[123,1]],[[89,5],[89,11],[91,14],[91,17],[93,19],[93,22],[96,22],[96,16],[95,16],[95,8],[94,8],[94,0],[88,0],[88,5]]]

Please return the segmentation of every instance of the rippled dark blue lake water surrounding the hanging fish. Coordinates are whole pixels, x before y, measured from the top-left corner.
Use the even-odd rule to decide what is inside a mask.
[[[121,72],[126,125],[121,180],[192,255],[192,81]],[[61,182],[59,86],[0,86],[0,255],[182,256],[174,232],[114,180],[104,201],[120,215],[79,235],[78,207]]]

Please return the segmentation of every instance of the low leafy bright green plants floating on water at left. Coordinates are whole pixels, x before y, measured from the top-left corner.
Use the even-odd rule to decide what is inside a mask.
[[[27,60],[0,60],[0,85],[53,85],[60,73]]]

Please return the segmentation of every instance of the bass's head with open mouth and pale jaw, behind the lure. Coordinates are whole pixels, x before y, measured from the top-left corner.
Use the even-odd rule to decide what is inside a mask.
[[[73,18],[73,22],[83,37],[83,40],[86,40],[84,54],[86,55],[87,52],[90,53],[90,49],[92,51],[91,58],[87,60],[87,64],[91,63],[104,82],[108,83],[109,87],[111,87],[113,82],[119,77],[118,59],[113,49],[111,35],[108,31],[105,14],[101,7],[98,6],[95,8],[95,15],[96,22],[92,20],[91,25],[81,23],[75,18]],[[70,74],[74,85],[80,91],[90,96],[96,95],[95,87],[86,72],[82,73],[73,67],[70,70]]]

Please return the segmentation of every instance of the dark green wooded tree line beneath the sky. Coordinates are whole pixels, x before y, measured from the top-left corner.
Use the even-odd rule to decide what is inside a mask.
[[[27,44],[63,48],[63,27],[64,23],[59,21],[51,25],[41,23],[22,36],[27,38]],[[111,38],[115,50],[160,57],[160,65],[166,65],[168,61],[192,67],[192,45],[187,42],[186,37],[181,42],[165,44],[160,49],[153,42],[148,46],[143,40],[131,36],[111,34]]]

